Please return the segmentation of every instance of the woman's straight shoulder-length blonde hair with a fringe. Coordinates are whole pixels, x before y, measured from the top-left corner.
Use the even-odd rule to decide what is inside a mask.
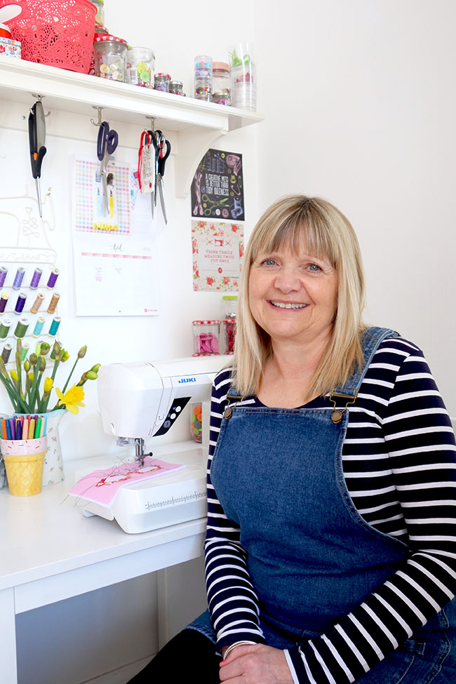
[[[362,363],[364,274],[354,229],[342,212],[324,199],[286,196],[274,202],[257,222],[244,257],[233,359],[233,384],[243,396],[257,393],[264,363],[271,354],[269,335],[250,311],[250,267],[259,253],[272,253],[284,245],[298,253],[303,242],[310,254],[329,260],[337,273],[333,332],[307,396],[321,396],[340,387],[355,363]]]

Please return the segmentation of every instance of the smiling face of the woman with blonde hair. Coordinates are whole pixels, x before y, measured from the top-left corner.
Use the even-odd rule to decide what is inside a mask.
[[[253,318],[272,342],[326,341],[336,310],[337,274],[325,258],[290,248],[262,252],[250,267],[249,303]]]

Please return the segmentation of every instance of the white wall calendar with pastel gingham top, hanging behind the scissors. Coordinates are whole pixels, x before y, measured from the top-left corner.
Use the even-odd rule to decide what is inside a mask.
[[[109,161],[109,206],[100,199],[100,162],[74,161],[73,257],[76,316],[158,314],[150,195],[127,163]]]

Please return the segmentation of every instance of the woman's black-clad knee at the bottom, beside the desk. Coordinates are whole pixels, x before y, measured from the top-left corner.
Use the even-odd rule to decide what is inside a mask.
[[[195,629],[184,629],[128,684],[220,684],[219,663],[210,639]]]

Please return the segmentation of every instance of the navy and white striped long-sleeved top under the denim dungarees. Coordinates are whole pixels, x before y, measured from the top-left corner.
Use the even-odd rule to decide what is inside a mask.
[[[215,378],[209,467],[229,369]],[[255,397],[238,405],[261,405]],[[327,405],[317,398],[308,406]],[[401,539],[410,555],[394,575],[318,638],[286,651],[295,683],[345,684],[373,668],[456,594],[456,445],[429,366],[415,344],[384,340],[373,356],[342,449],[344,477],[363,518]],[[217,647],[264,643],[255,587],[239,528],[228,520],[210,481],[206,587]]]

